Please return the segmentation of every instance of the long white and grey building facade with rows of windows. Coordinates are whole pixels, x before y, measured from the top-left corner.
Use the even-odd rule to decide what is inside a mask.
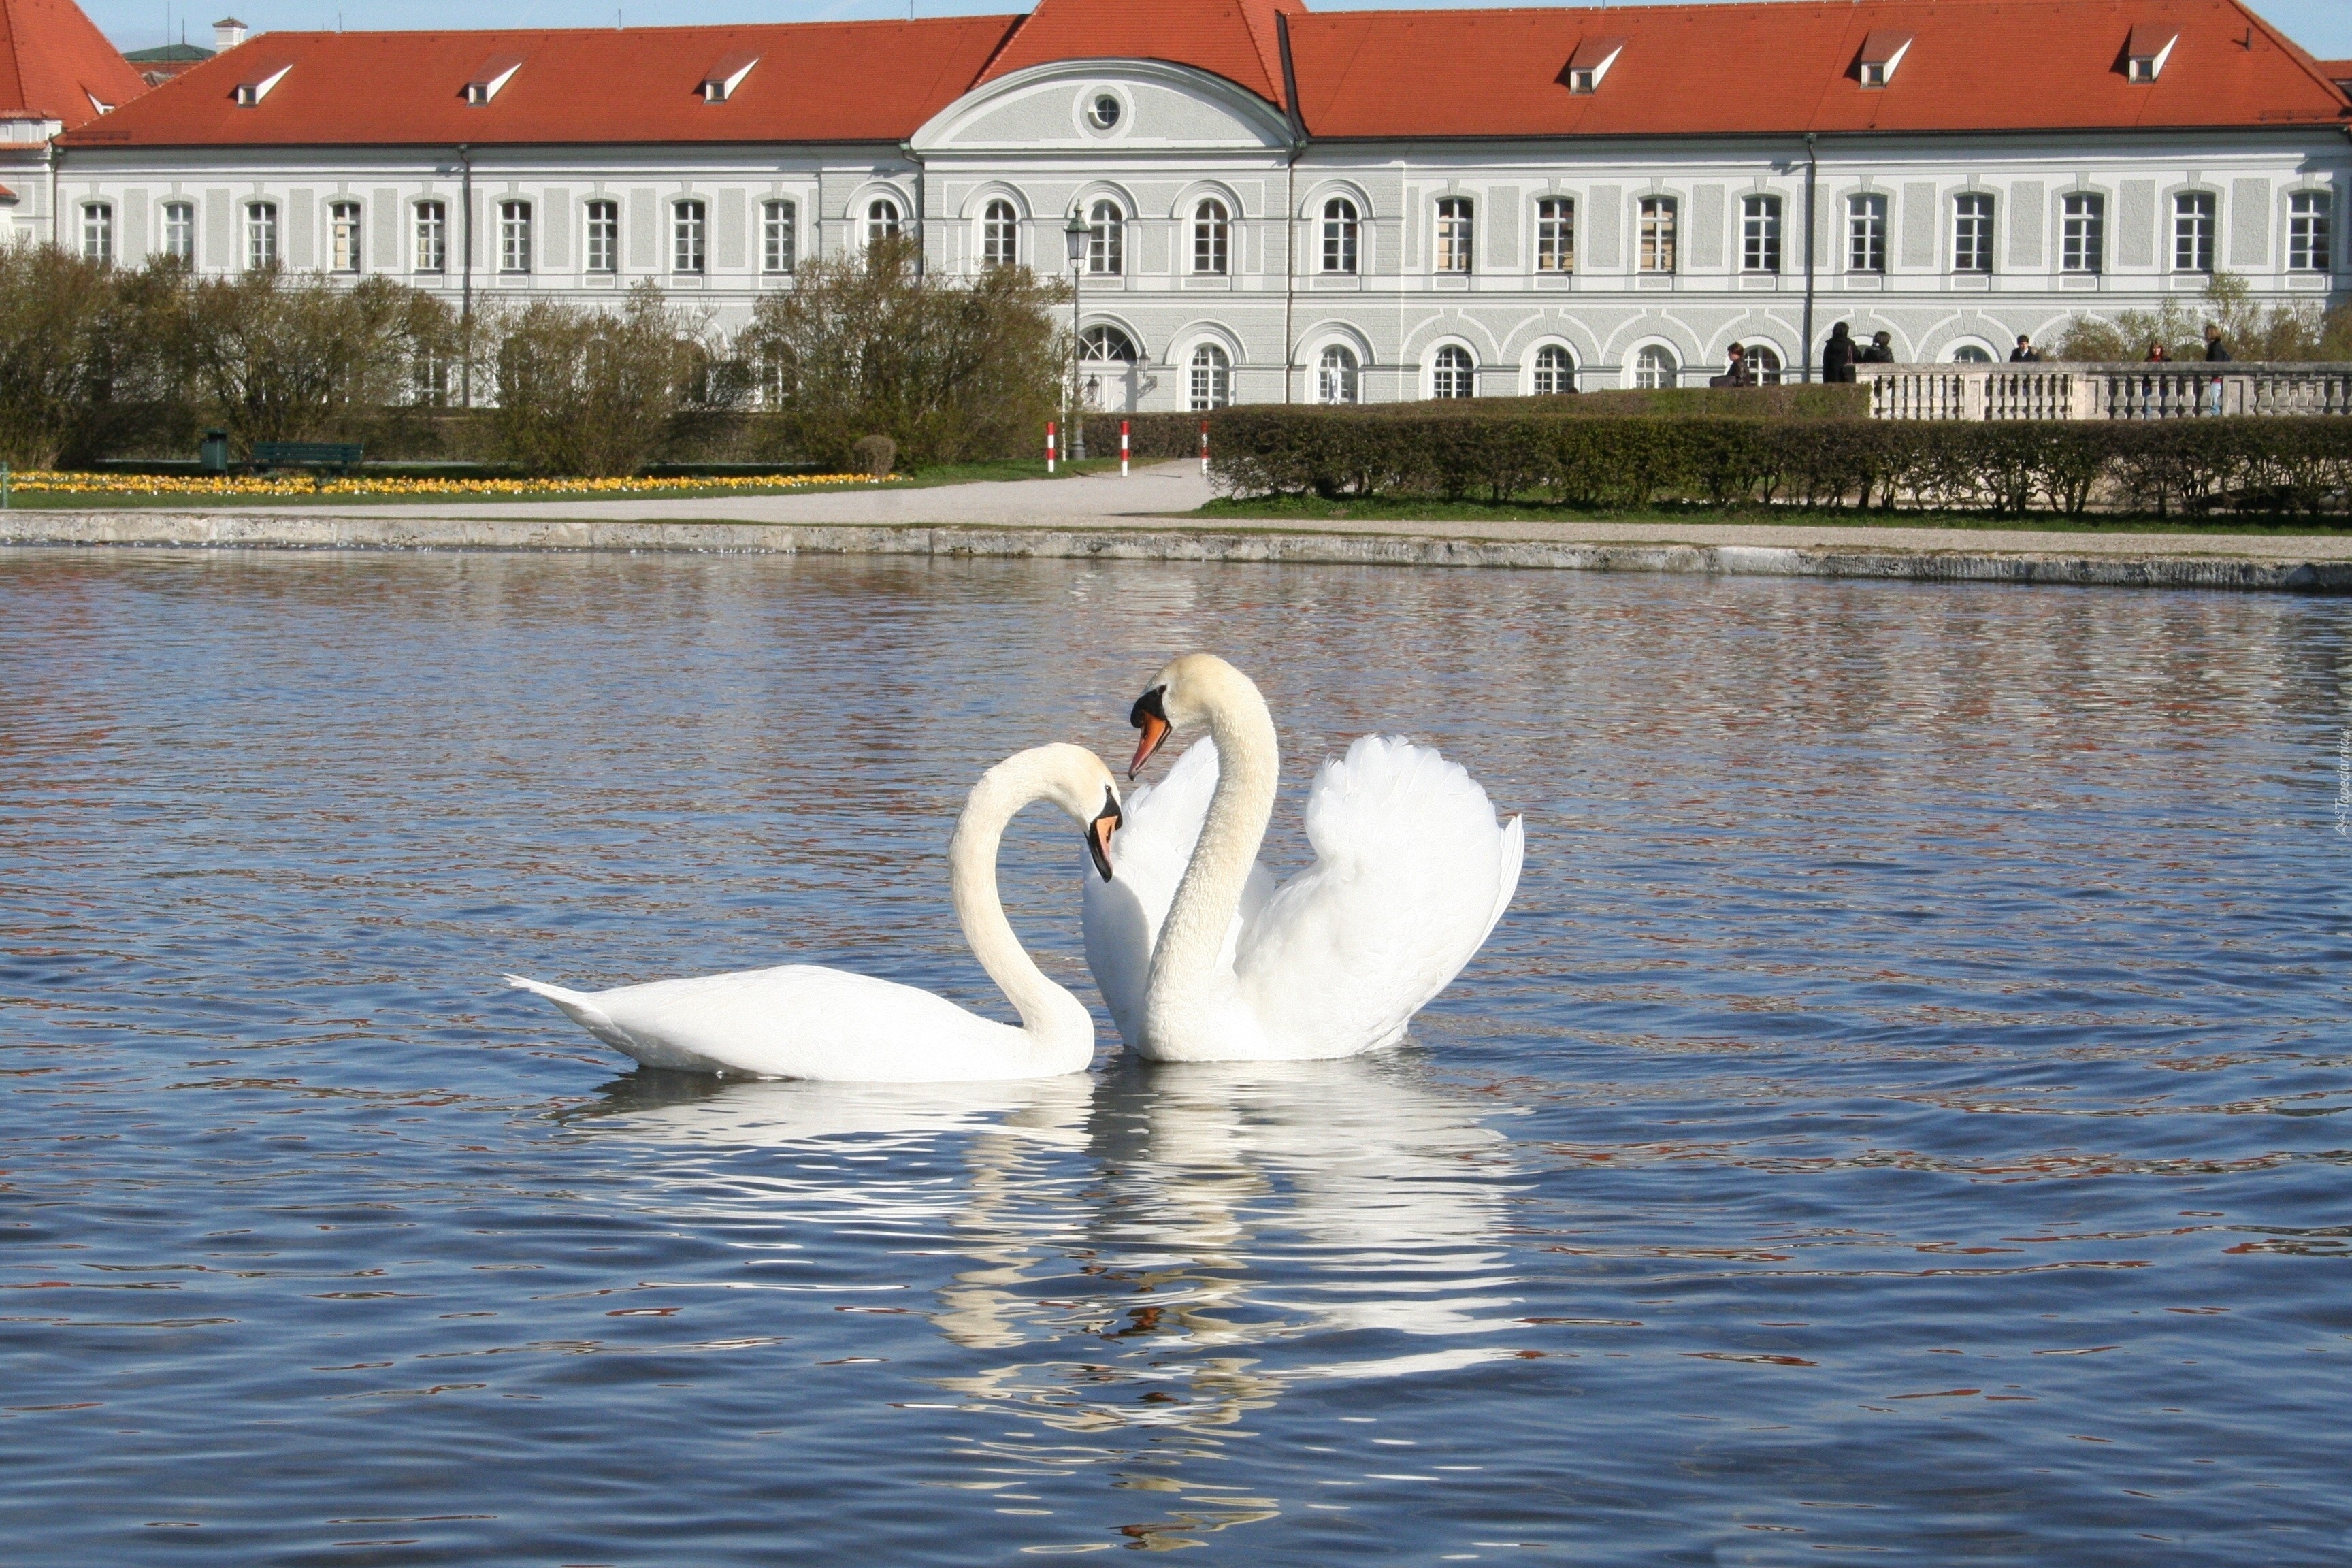
[[[1011,35],[1073,2],[1009,19]],[[1799,7],[1710,9],[1764,12],[1769,24]],[[1891,94],[1936,63],[1910,42],[1936,42],[1919,19],[1936,9],[1853,7],[1849,33],[1863,42],[1830,92],[1863,113],[1877,113],[1867,94],[1893,106]],[[1000,47],[976,85],[941,94],[896,139],[416,143],[174,129],[172,94],[205,94],[207,125],[238,129],[261,125],[301,73],[327,73],[303,49],[280,66],[263,38],[66,136],[45,216],[47,237],[118,263],[165,252],[200,273],[275,263],[388,275],[475,306],[612,301],[654,280],[729,331],[762,294],[795,287],[811,259],[880,233],[920,235],[924,263],[948,273],[1016,261],[1073,275],[1075,214],[1087,228],[1075,268],[1087,386],[1098,407],[1141,411],[1689,386],[1722,371],[1733,341],[1795,378],[1835,322],[1860,339],[1891,334],[1905,362],[2004,360],[2020,334],[2197,296],[2218,270],[2260,301],[2352,296],[2343,89],[2277,42],[2260,61],[2267,75],[2249,75],[2225,54],[2225,33],[2251,16],[2232,0],[2126,0],[2124,12],[2161,14],[2129,33],[2103,0],[2042,9],[2077,14],[2084,49],[2114,35],[2117,80],[2100,89],[2152,94],[2180,73],[2237,71],[2227,122],[1938,129],[1924,103],[1893,127],[1832,115],[1785,132],[1418,134],[1404,106],[1395,120],[1416,134],[1362,134],[1367,113],[1388,113],[1378,94],[1371,110],[1327,94],[1329,113],[1317,115],[1315,94],[1301,92],[1312,61],[1294,47],[1303,12],[1284,12],[1272,54],[1289,80],[1272,99],[1176,59],[1004,68]],[[1969,0],[1940,12],[1966,14]],[[1595,38],[1597,26],[1637,33],[1637,14],[1557,19],[1564,103],[1642,87],[1639,52]],[[1872,21],[1886,26],[1863,26]],[[748,96],[795,31],[727,31],[769,40],[731,87],[720,71],[750,49],[729,56],[729,40],[710,38],[701,54],[713,61],[694,68],[703,106]],[[663,38],[691,33],[706,31]],[[482,38],[489,59],[473,75],[496,80],[503,49],[515,61],[508,80],[522,85],[532,40],[548,35]],[[1889,52],[1884,38],[1905,42],[1872,87],[1867,56]],[[2150,66],[2129,49],[2159,38],[2157,75],[2133,80]],[[1578,75],[1576,61],[1611,42],[1618,52],[1599,75],[1590,63]],[[1823,59],[1835,59],[1830,45]],[[1543,61],[1545,82],[1552,71]],[[452,80],[452,96],[482,82]],[[510,89],[499,82],[475,108],[496,110]],[[259,101],[238,106],[249,92]],[[141,113],[162,132],[141,134]],[[1317,118],[1355,134],[1319,134]],[[2023,118],[2037,118],[2032,106]]]

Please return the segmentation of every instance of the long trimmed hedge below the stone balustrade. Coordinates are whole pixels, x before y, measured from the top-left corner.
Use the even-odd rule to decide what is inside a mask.
[[[1578,400],[1223,409],[1211,473],[1237,496],[1548,496],[1578,508],[2352,510],[2352,418],[1625,418],[1555,402]]]

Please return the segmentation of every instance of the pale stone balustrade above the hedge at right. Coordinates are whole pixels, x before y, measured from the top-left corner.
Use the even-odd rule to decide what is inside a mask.
[[[2352,414],[2352,364],[1856,364],[1872,418]]]

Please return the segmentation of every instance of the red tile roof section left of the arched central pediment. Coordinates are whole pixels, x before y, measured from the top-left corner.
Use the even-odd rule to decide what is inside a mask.
[[[78,146],[903,141],[971,87],[1018,16],[715,28],[263,33],[85,127]],[[701,96],[729,54],[760,63]],[[522,68],[466,103],[485,61]],[[240,82],[292,66],[254,108]]]

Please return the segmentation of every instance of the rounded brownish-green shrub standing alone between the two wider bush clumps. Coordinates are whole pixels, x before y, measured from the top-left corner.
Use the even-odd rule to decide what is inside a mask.
[[[496,360],[501,447],[539,475],[633,475],[682,414],[741,397],[654,282],[616,313],[532,301],[499,324]]]

